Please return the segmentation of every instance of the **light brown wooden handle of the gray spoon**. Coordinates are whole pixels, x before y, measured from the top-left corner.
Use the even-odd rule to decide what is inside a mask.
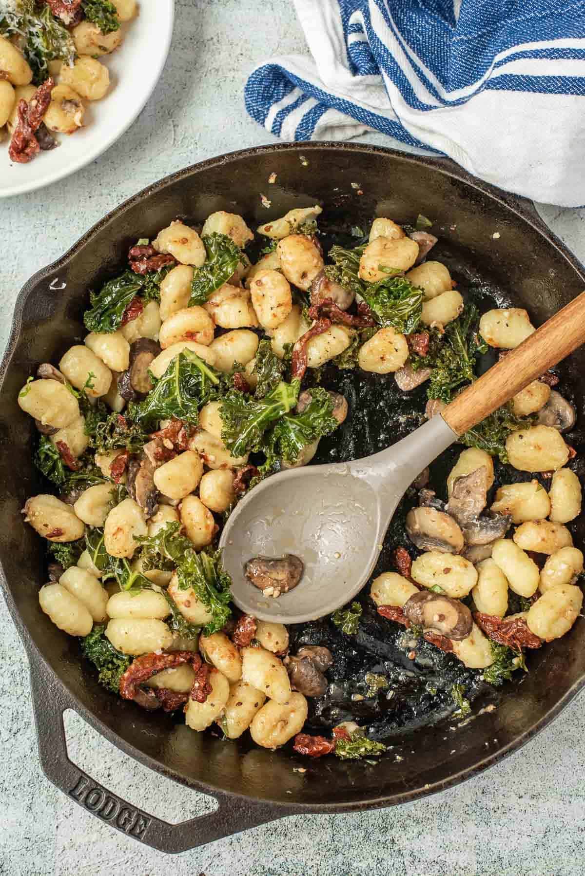
[[[443,420],[461,435],[585,343],[585,292],[460,393]]]

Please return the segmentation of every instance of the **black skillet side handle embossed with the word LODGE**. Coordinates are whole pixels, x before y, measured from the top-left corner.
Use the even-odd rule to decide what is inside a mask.
[[[31,689],[40,764],[47,779],[89,813],[127,837],[158,851],[188,851],[290,814],[263,803],[214,795],[218,809],[189,821],[171,824],[148,815],[104,788],[69,759],[63,712],[74,709],[74,704],[39,666],[32,668]]]

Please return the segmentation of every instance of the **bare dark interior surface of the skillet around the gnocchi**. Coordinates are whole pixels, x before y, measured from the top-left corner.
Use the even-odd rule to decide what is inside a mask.
[[[300,161],[300,154],[307,155],[307,165]],[[273,185],[268,183],[271,173],[277,174]],[[264,208],[261,194],[270,199],[270,208]],[[351,226],[367,226],[375,215],[390,216],[398,223],[412,223],[419,213],[429,216],[433,233],[441,238],[433,258],[448,265],[463,295],[472,295],[482,309],[502,304],[526,307],[538,325],[583,287],[583,275],[576,263],[556,244],[514,213],[504,200],[487,193],[482,186],[446,173],[433,160],[354,145],[291,146],[240,153],[177,174],[115,211],[66,258],[41,272],[28,286],[22,329],[11,344],[10,364],[0,391],[0,440],[4,448],[0,457],[4,482],[0,503],[5,521],[0,533],[0,560],[27,646],[32,653],[38,650],[53,668],[77,700],[81,713],[118,745],[152,767],[196,787],[223,789],[288,806],[335,808],[399,802],[409,793],[424,793],[437,783],[457,781],[462,774],[481,768],[486,758],[528,738],[558,708],[563,697],[582,683],[582,618],[566,637],[531,655],[530,672],[520,683],[506,684],[494,692],[474,682],[475,711],[488,703],[497,708],[457,726],[453,720],[434,723],[448,703],[445,687],[443,696],[441,691],[434,696],[428,690],[433,687],[428,676],[436,675],[436,665],[420,667],[413,678],[404,676],[404,696],[398,696],[389,708],[378,710],[382,717],[364,714],[366,707],[357,706],[363,701],[352,699],[352,694],[359,693],[352,684],[356,683],[356,675],[363,674],[364,661],[370,661],[372,669],[379,669],[380,661],[386,661],[398,667],[398,673],[411,671],[405,657],[404,633],[388,635],[389,625],[384,622],[381,628],[364,599],[366,611],[360,636],[365,638],[358,638],[356,647],[347,642],[339,644],[340,661],[345,661],[339,702],[327,703],[321,714],[315,710],[311,720],[322,731],[339,720],[335,710],[341,709],[351,710],[362,724],[377,721],[380,738],[391,733],[391,749],[376,765],[337,759],[307,762],[288,750],[269,752],[246,740],[223,742],[208,733],[194,733],[172,717],[143,712],[109,695],[97,684],[88,666],[81,665],[77,643],[41,614],[37,594],[46,575],[45,549],[30,527],[23,524],[20,509],[25,499],[42,491],[43,486],[32,466],[32,442],[36,439],[32,423],[16,405],[18,390],[39,362],[56,362],[71,343],[79,343],[84,334],[81,314],[88,289],[99,286],[120,269],[126,251],[139,237],[154,237],[177,217],[202,223],[217,209],[239,213],[256,227],[290,208],[314,202],[325,208],[320,225],[327,230],[329,241],[349,241]],[[53,282],[56,279],[58,282]],[[60,293],[51,290],[51,285],[59,287],[63,282],[67,285]],[[560,389],[577,407],[577,431],[567,441],[578,452],[583,449],[584,393],[580,374],[584,368],[582,349],[560,368]],[[347,394],[354,411],[339,434],[321,442],[316,462],[365,456],[397,441],[419,424],[424,387],[405,399],[391,376],[333,373],[328,369],[323,382]],[[455,448],[452,456],[458,452]],[[444,483],[441,467],[434,474],[436,484],[441,483],[441,477]],[[408,501],[412,497],[406,498],[391,527],[377,571],[390,568],[391,548],[405,543],[400,527]],[[576,521],[576,546],[581,547],[584,534],[582,521]],[[322,631],[316,626],[305,625],[293,631],[293,638],[300,641],[313,637],[317,641]],[[336,653],[337,648],[335,644]],[[455,669],[457,681],[469,681],[461,665],[452,671]],[[445,673],[444,667],[439,670]],[[352,677],[354,681],[348,687],[348,678]],[[295,772],[294,767],[304,767],[306,772]]]

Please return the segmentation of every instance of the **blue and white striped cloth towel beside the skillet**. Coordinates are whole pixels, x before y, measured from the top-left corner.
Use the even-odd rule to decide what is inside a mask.
[[[585,204],[585,0],[294,0],[313,59],[250,75],[285,140],[376,129],[535,201]]]

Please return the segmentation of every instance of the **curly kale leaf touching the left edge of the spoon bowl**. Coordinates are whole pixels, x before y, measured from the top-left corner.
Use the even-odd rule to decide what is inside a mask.
[[[177,568],[179,590],[193,588],[196,597],[211,614],[203,628],[206,636],[222,629],[231,617],[231,578],[223,570],[220,552],[196,554],[191,550]]]

